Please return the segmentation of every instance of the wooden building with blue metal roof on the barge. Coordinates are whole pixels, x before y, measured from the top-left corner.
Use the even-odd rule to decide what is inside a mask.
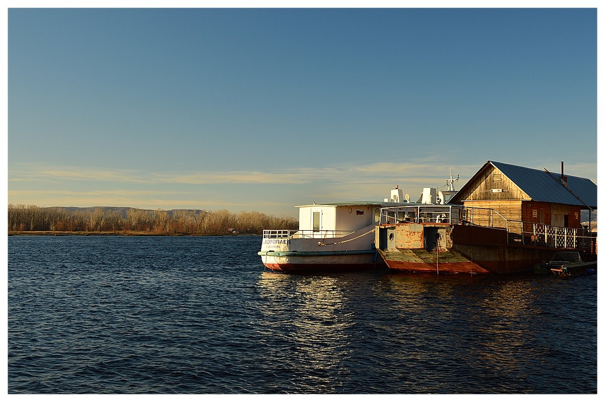
[[[597,185],[586,178],[565,176],[562,162],[561,172],[552,173],[487,161],[450,204],[493,209],[496,216],[483,219],[533,237],[536,227],[539,232],[554,230],[549,227],[588,229],[581,225],[581,211],[597,209]]]

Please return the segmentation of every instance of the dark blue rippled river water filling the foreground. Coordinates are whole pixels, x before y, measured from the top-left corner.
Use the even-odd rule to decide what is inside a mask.
[[[8,237],[8,392],[597,392],[597,276],[263,271],[260,236]]]

